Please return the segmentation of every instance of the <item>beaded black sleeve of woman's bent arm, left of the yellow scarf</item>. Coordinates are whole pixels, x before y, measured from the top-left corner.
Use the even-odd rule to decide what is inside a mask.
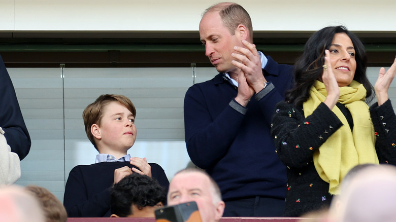
[[[287,167],[302,168],[342,123],[324,103],[307,118],[291,103],[279,102],[272,119],[276,152]]]

